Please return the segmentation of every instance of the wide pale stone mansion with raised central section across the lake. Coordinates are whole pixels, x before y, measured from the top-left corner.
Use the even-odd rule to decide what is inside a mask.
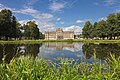
[[[61,28],[53,32],[45,32],[45,40],[65,40],[74,39],[74,32],[63,31]]]

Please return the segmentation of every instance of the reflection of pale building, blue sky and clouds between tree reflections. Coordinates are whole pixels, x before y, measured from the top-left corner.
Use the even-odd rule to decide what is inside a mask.
[[[53,60],[54,58],[79,59],[82,54],[82,43],[52,42],[43,43],[38,57]]]

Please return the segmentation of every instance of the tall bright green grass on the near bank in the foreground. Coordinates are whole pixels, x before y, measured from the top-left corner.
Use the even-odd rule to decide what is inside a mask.
[[[111,56],[106,63],[75,64],[65,60],[56,66],[43,59],[20,57],[10,64],[0,64],[0,80],[119,80],[120,57]]]

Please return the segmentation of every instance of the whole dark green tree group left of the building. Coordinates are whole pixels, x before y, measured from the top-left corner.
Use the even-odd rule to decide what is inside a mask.
[[[4,9],[0,11],[0,39],[15,40],[15,39],[39,39],[39,28],[35,21],[28,21],[21,25],[12,11]],[[39,37],[40,36],[40,37]],[[42,35],[42,39],[44,35]]]

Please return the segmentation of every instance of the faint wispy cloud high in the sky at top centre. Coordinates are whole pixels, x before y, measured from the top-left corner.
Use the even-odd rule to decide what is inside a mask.
[[[62,11],[65,8],[66,3],[64,2],[53,2],[50,4],[49,9],[52,11]]]

